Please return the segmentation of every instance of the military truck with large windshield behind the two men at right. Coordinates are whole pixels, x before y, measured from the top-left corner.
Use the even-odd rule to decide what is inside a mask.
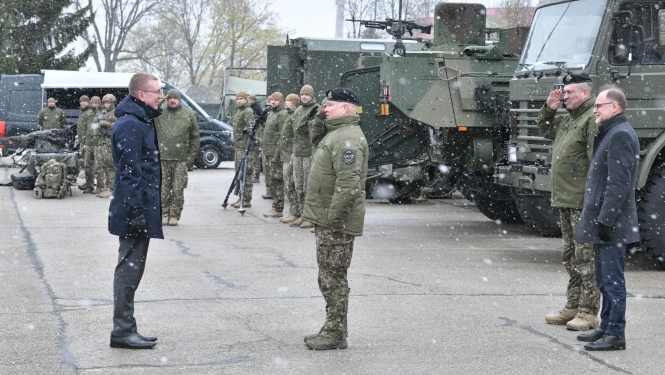
[[[571,73],[623,89],[626,116],[640,141],[637,179],[641,245],[665,263],[665,2],[558,1],[536,10],[510,82],[512,136],[508,162],[495,181],[509,186],[524,221],[545,236],[560,235],[550,207],[552,143],[541,138],[539,110]],[[560,110],[561,113],[565,113]],[[637,229],[637,228],[636,228]]]

